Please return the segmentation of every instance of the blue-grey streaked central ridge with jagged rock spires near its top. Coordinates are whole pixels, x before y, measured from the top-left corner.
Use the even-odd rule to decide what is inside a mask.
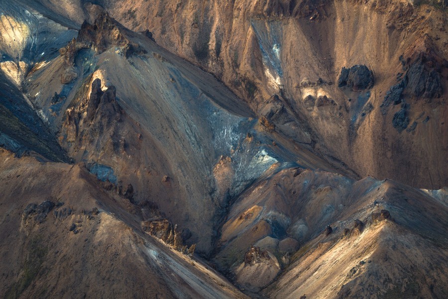
[[[33,104],[61,144],[89,168],[112,169],[108,179],[131,184],[136,201],[155,201],[192,231],[188,242],[203,253],[212,250],[229,200],[272,165],[274,172],[297,163],[336,171],[254,119],[210,74],[104,12],[60,52],[24,89],[41,95]],[[222,161],[229,162],[224,180]]]

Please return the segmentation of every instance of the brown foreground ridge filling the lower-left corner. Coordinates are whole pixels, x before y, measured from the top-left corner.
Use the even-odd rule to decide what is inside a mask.
[[[0,156],[4,298],[245,298],[144,234],[84,165]]]

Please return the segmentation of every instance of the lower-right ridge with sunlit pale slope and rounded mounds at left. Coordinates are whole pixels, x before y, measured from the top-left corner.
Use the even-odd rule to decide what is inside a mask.
[[[269,298],[442,298],[447,213],[394,181],[286,169],[235,201],[215,260],[246,290],[270,285]]]

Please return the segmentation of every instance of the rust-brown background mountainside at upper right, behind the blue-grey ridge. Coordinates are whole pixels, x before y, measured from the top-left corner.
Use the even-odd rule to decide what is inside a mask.
[[[447,119],[446,10],[406,0],[95,3],[128,28],[153,31],[159,44],[215,74],[257,115],[272,118],[277,131],[332,163],[361,177],[420,188],[447,185],[448,141],[441,131]],[[73,5],[86,15],[92,7]],[[419,100],[424,93],[410,86],[404,107],[384,108],[391,87],[422,53],[440,59],[430,71],[439,92]],[[370,90],[336,85],[341,69],[354,65],[373,72]],[[316,102],[324,96],[330,100]]]

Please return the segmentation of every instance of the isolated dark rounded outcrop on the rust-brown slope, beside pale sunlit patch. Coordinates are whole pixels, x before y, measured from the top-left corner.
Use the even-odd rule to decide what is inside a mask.
[[[337,86],[348,86],[354,92],[369,89],[373,86],[373,72],[365,65],[354,65],[349,69],[343,67]]]

